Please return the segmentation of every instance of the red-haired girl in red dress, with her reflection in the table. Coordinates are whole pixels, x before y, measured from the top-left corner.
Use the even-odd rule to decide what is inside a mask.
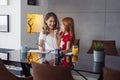
[[[71,46],[73,45],[73,41],[75,40],[74,33],[74,21],[71,17],[65,17],[62,19],[62,27],[61,27],[61,42],[60,48],[63,54],[71,51]],[[69,56],[65,56],[62,60],[62,65],[70,66]]]

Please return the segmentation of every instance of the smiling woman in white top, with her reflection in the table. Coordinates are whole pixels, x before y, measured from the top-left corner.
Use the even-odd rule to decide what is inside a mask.
[[[57,32],[59,30],[59,21],[55,13],[47,13],[44,18],[44,26],[39,36],[39,49],[40,51],[55,50],[59,47],[59,39]],[[53,63],[54,55],[47,54],[46,60]]]

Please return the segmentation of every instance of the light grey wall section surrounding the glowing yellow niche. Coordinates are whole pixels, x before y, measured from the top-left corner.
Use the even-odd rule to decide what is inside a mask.
[[[28,47],[38,47],[38,35],[39,33],[27,33],[27,14],[45,14],[48,9],[47,0],[39,0],[39,5],[27,5],[27,0],[21,1],[21,45],[27,45]]]

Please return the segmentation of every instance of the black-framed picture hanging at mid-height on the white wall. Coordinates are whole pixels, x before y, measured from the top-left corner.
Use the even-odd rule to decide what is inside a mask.
[[[0,15],[0,32],[9,32],[9,15]]]

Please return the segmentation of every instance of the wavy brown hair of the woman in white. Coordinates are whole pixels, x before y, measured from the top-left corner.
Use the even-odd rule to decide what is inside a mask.
[[[58,30],[59,30],[59,20],[58,20],[56,14],[53,13],[53,12],[49,12],[49,13],[46,14],[46,16],[45,16],[45,18],[44,18],[44,26],[43,26],[43,28],[42,28],[42,29],[43,29],[43,33],[46,34],[46,35],[49,33],[49,27],[48,27],[46,21],[47,21],[50,17],[53,17],[53,18],[55,19],[55,27],[54,27],[54,29],[58,29]]]

